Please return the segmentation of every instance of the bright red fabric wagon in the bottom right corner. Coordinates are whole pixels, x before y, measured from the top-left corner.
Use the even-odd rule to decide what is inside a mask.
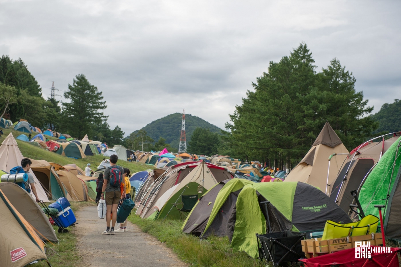
[[[383,249],[383,247],[371,246]],[[369,247],[367,247],[369,248]],[[355,249],[344,249],[331,254],[310,259],[300,259],[304,267],[399,267],[397,254],[401,248],[387,248],[391,252],[372,252],[370,259],[356,259]]]

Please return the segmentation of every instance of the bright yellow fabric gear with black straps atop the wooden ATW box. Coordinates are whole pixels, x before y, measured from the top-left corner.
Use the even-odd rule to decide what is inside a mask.
[[[356,223],[341,224],[327,220],[326,225],[324,225],[322,240],[376,233],[378,224],[379,218],[372,214],[365,216]]]

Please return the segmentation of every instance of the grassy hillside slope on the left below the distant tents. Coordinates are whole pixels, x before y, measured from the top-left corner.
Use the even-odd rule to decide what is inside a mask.
[[[3,140],[12,132],[12,135],[14,138],[17,136],[23,134],[20,131],[14,131],[12,129],[2,129],[4,132],[4,135],[0,137],[0,144],[3,142]],[[34,134],[32,134],[34,136]],[[56,139],[49,137],[49,139]],[[102,155],[95,155],[95,156],[87,156],[86,158],[82,159],[75,159],[75,158],[67,158],[65,156],[61,156],[59,154],[56,154],[54,152],[50,152],[47,150],[44,150],[42,148],[38,148],[36,146],[33,146],[30,143],[16,140],[18,144],[18,148],[20,149],[22,155],[26,158],[32,158],[34,160],[46,160],[47,162],[55,162],[57,164],[60,164],[61,166],[66,165],[66,164],[76,164],[78,167],[81,169],[84,169],[86,167],[86,164],[90,163],[92,170],[96,170],[96,167],[100,164],[100,162],[103,160]],[[118,165],[130,169],[131,173],[134,172],[139,172],[142,170],[148,170],[150,166],[147,166],[146,164],[140,163],[140,162],[125,162],[122,160],[118,161]]]

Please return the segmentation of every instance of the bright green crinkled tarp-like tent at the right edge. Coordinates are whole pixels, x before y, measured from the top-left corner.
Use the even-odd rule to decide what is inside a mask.
[[[383,157],[381,157],[360,189],[359,202],[365,214],[379,216],[379,211],[375,208],[375,205],[387,205],[383,212],[387,214],[387,212],[389,212],[389,206],[391,206],[389,203],[391,194],[393,194],[392,205],[399,201],[397,197],[399,193],[396,191],[398,184],[395,186],[394,193],[393,187],[396,180],[398,180],[398,172],[401,164],[400,146],[401,137],[399,137]],[[390,210],[393,210],[393,208],[390,207]],[[397,210],[397,212],[399,213],[399,210]],[[398,222],[400,222],[400,220],[398,220]],[[399,229],[401,229],[401,223]]]

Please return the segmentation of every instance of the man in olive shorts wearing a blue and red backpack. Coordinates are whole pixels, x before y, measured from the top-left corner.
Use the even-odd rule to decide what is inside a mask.
[[[115,235],[114,226],[117,220],[117,206],[121,198],[121,184],[124,183],[123,174],[124,169],[121,166],[117,166],[118,157],[117,155],[110,156],[110,167],[106,168],[103,176],[103,188],[101,192],[101,199],[106,200],[106,224],[107,228],[103,235]],[[125,191],[123,192],[123,198],[125,197]],[[113,218],[110,218],[113,213]],[[111,228],[110,228],[111,220]]]

